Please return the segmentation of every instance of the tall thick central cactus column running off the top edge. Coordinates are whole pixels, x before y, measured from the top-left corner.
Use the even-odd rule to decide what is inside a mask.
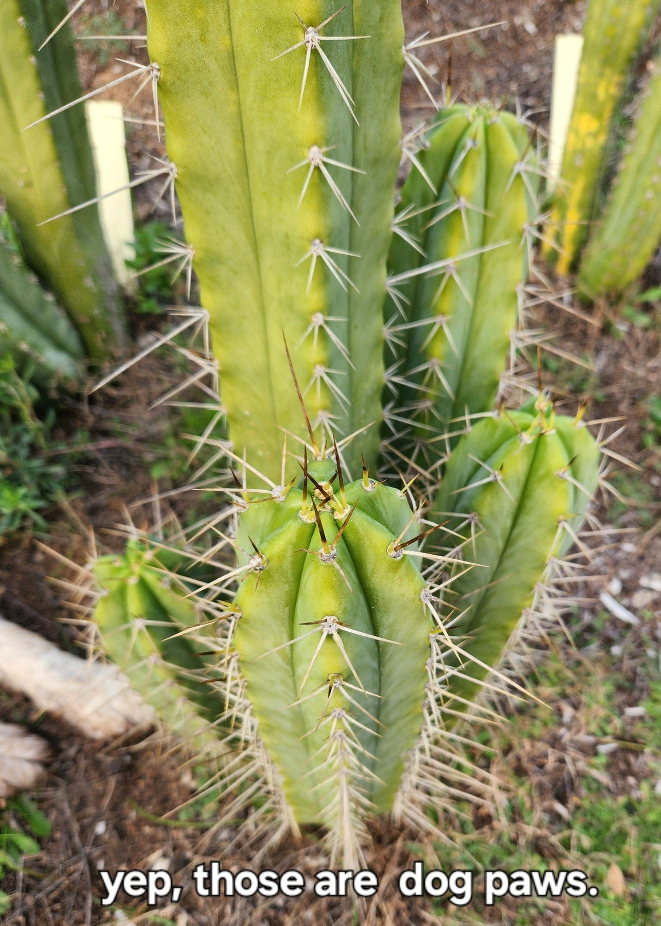
[[[399,0],[149,5],[231,440],[271,479],[303,436],[282,332],[313,422],[376,457],[403,38]]]

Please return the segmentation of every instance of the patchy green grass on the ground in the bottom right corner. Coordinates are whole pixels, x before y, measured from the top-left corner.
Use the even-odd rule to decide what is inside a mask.
[[[606,616],[595,620],[589,634],[580,645],[594,644],[603,638]],[[585,636],[585,634],[583,634]],[[451,907],[446,901],[434,902],[434,912],[441,923],[502,923],[503,926],[543,926],[554,921],[566,926],[655,926],[661,910],[661,801],[655,794],[655,782],[661,776],[661,678],[658,675],[658,655],[641,659],[642,643],[653,652],[652,623],[640,637],[625,644],[624,663],[635,658],[641,663],[639,672],[649,679],[649,692],[642,707],[646,714],[625,732],[617,709],[618,695],[627,693],[630,680],[621,671],[621,664],[606,651],[593,665],[576,659],[571,666],[557,655],[548,657],[539,669],[533,690],[550,704],[567,701],[576,707],[585,732],[602,743],[617,740],[621,750],[630,750],[639,757],[647,750],[648,777],[643,778],[639,789],[631,789],[623,782],[613,753],[597,753],[586,757],[588,771],[579,774],[568,808],[570,819],[564,820],[549,812],[541,800],[539,786],[545,769],[532,763],[527,770],[521,768],[521,757],[552,757],[551,747],[556,743],[558,714],[549,707],[529,703],[520,709],[505,727],[491,734],[487,742],[496,748],[501,757],[499,773],[511,790],[506,792],[505,806],[500,816],[494,815],[492,824],[477,828],[471,808],[461,807],[468,821],[457,817],[458,837],[456,848],[437,845],[437,859],[430,868],[444,871],[457,869],[514,870],[579,869],[588,874],[589,883],[599,890],[595,898],[568,900],[561,914],[567,919],[549,920],[555,911],[556,901],[544,898],[521,898],[518,901],[497,902],[491,908],[483,907],[481,877],[475,878],[474,900],[470,907]],[[484,741],[485,737],[480,738]],[[543,745],[540,749],[540,744]],[[555,746],[562,753],[562,746]],[[540,759],[540,762],[542,760]],[[568,770],[567,766],[567,770]],[[590,773],[592,771],[592,774]],[[537,775],[540,777],[538,778]],[[612,794],[605,787],[604,775],[617,779],[617,790],[630,794]],[[625,776],[626,777],[626,776]],[[546,795],[548,797],[548,795]],[[425,857],[419,849],[420,857]],[[624,875],[626,892],[617,895],[608,887],[608,871],[617,865]]]

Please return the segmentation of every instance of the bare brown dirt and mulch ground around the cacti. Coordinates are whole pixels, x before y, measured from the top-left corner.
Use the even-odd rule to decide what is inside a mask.
[[[83,27],[94,31],[97,26],[94,16],[106,15],[108,10],[127,30],[143,30],[143,12],[134,0],[117,0],[115,4],[90,0],[85,9],[86,19],[77,26],[79,31]],[[405,19],[409,38],[422,31],[436,35],[505,20],[505,25],[453,43],[452,93],[463,99],[504,98],[511,106],[518,100],[521,106],[538,112],[536,118],[543,127],[550,103],[555,34],[579,30],[583,10],[582,2],[560,0],[527,3],[447,0],[443,4],[407,0]],[[138,45],[119,48],[117,55],[146,60]],[[444,83],[448,80],[449,51],[448,44],[439,44],[430,46],[425,53],[430,70]],[[98,48],[81,53],[81,73],[88,88],[100,86],[120,72],[123,73],[123,66],[113,62],[112,56],[101,61]],[[124,85],[117,96],[126,103],[131,93],[128,85]],[[410,74],[405,79],[403,103],[405,125],[409,127],[432,111]],[[137,119],[153,118],[146,99],[136,101],[131,112]],[[151,156],[162,156],[163,151],[149,127],[134,124],[129,133],[129,153],[131,169],[135,171],[150,169],[154,163]],[[141,218],[150,210],[149,197],[149,191],[138,194]],[[163,211],[157,214],[167,216],[164,207],[159,208]],[[650,285],[658,284],[659,278],[661,268],[650,269]],[[603,578],[593,583],[591,594],[605,589],[610,582],[609,587],[617,588],[617,598],[622,604],[637,613],[644,609],[655,611],[657,623],[653,620],[629,627],[606,616],[601,649],[597,646],[595,650],[591,642],[585,652],[580,651],[578,663],[576,653],[567,643],[557,643],[567,660],[578,666],[579,676],[581,659],[598,659],[600,652],[606,650],[614,654],[611,666],[625,679],[617,691],[617,704],[612,706],[620,714],[626,707],[640,704],[647,695],[649,679],[644,669],[644,650],[661,643],[659,598],[640,584],[642,576],[658,573],[661,563],[658,447],[642,446],[642,434],[648,427],[646,403],[650,395],[661,393],[659,307],[648,307],[647,311],[655,323],[640,327],[616,317],[615,309],[606,305],[595,307],[589,320],[550,305],[539,309],[539,319],[557,332],[555,343],[570,354],[589,357],[592,365],[592,371],[587,372],[561,361],[559,367],[545,369],[545,381],[554,385],[558,400],[565,402],[567,408],[575,409],[581,398],[591,396],[588,418],[624,419],[626,431],[609,448],[634,459],[642,470],[634,483],[626,483],[623,491],[631,494],[635,487],[650,487],[644,497],[635,499],[636,505],[628,513],[618,515],[617,526],[631,532],[613,535],[609,538],[612,546],[595,555],[594,571]],[[168,435],[168,423],[164,413],[149,412],[148,407],[170,375],[168,369],[154,361],[153,365],[132,372],[118,386],[107,389],[102,397],[70,408],[69,425],[89,430],[92,449],[77,464],[81,468],[84,494],[71,502],[68,512],[54,514],[51,524],[49,542],[69,557],[77,561],[85,557],[77,520],[93,524],[96,532],[104,534],[123,519],[124,506],[149,494],[151,483],[145,474],[145,454],[148,462],[149,448],[156,448]],[[120,432],[123,429],[123,436],[118,437],[118,428]],[[612,425],[611,430],[614,428]],[[607,517],[604,505],[598,514],[602,519]],[[107,544],[113,544],[109,535],[104,537]],[[56,591],[44,578],[53,571],[53,563],[28,536],[11,548],[0,548],[0,608],[6,616],[46,634],[55,633],[48,621],[63,612]],[[21,602],[28,607],[21,607]],[[598,610],[596,604],[581,608],[582,617],[576,630],[579,647],[582,634],[591,627]],[[568,690],[569,694],[565,688],[562,696],[553,688],[544,692],[544,698],[554,709],[555,722],[538,736],[525,734],[517,738],[512,731],[507,733],[503,752],[493,759],[491,767],[505,782],[511,782],[515,775],[533,782],[533,816],[539,825],[530,832],[523,822],[514,823],[510,835],[514,844],[534,842],[537,851],[549,860],[558,857],[557,833],[570,825],[574,808],[580,803],[577,770],[587,768],[598,745],[591,734],[590,719],[581,710],[584,700],[580,684],[574,689],[569,686]],[[175,825],[164,823],[163,816],[190,797],[192,785],[190,775],[182,773],[177,759],[168,754],[166,745],[157,737],[100,749],[56,720],[31,718],[29,704],[8,694],[0,696],[0,719],[31,720],[52,744],[55,756],[40,795],[40,806],[53,823],[53,833],[44,841],[42,854],[31,858],[26,869],[16,877],[10,876],[4,885],[17,895],[14,910],[6,918],[7,926],[156,921],[147,916],[144,908],[131,907],[131,920],[121,920],[102,910],[98,900],[101,894],[98,868],[115,871],[165,864],[177,873],[177,882],[190,885],[190,870],[197,861],[222,858],[224,866],[237,869],[255,865],[255,847],[246,849],[237,843],[231,829],[207,831],[208,823],[204,820],[190,826],[179,821]],[[644,751],[622,749],[609,755],[601,774],[606,794],[632,795],[649,778],[651,770]],[[487,812],[474,822],[486,843],[500,837],[502,822],[497,814]],[[369,921],[384,926],[438,921],[431,915],[429,899],[405,901],[396,889],[397,873],[410,867],[421,851],[428,852],[433,859],[431,846],[423,849],[419,846],[414,833],[385,824],[380,826],[368,854],[368,866],[377,871],[381,882],[378,899],[368,907]],[[306,872],[324,867],[316,834],[308,834],[303,846],[281,845],[277,851],[260,858],[259,867],[301,868]],[[128,901],[125,907],[130,908]],[[351,907],[339,900],[318,901],[313,907],[309,896],[305,903],[277,899],[255,909],[248,908],[245,902],[207,903],[194,895],[190,887],[180,905],[158,913],[163,918],[158,921],[174,922],[177,926],[355,922]],[[508,901],[498,907],[497,914],[482,911],[480,915],[485,919],[474,921],[513,923],[517,903]],[[526,920],[534,926],[561,926],[568,921],[565,902],[549,905]]]

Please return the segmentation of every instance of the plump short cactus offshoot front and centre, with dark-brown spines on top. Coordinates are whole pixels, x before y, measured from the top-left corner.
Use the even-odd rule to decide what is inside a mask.
[[[430,622],[401,494],[367,477],[345,492],[320,484],[241,517],[252,574],[234,645],[296,820],[332,829],[338,799],[352,813],[363,799],[393,806],[422,724]]]

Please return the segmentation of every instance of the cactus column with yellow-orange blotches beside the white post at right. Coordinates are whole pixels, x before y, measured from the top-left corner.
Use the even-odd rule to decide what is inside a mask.
[[[584,244],[605,171],[605,147],[631,63],[660,0],[590,0],[580,58],[579,83],[555,192],[546,257],[567,274]]]

